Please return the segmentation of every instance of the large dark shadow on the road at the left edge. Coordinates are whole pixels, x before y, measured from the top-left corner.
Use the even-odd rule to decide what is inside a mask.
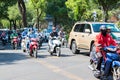
[[[0,65],[15,64],[16,61],[28,59],[20,53],[0,53]]]

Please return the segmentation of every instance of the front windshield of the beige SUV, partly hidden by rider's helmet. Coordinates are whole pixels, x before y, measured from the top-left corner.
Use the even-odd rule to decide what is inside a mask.
[[[94,32],[100,32],[100,26],[105,25],[107,28],[111,29],[111,32],[120,32],[120,30],[115,26],[115,24],[92,24]]]

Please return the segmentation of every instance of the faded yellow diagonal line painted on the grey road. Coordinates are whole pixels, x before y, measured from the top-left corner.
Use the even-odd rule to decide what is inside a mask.
[[[43,61],[43,60],[40,60],[40,59],[36,59],[36,60],[37,60],[37,62],[40,62],[42,65],[44,65],[45,67],[48,67],[49,69],[51,69],[55,73],[59,73],[59,74],[65,76],[65,77],[68,77],[68,78],[73,79],[73,80],[83,80],[82,78],[80,78],[80,77],[78,77],[78,76],[76,76],[76,75],[74,75],[70,72],[67,72],[65,70],[62,70],[57,66],[54,66],[50,63],[47,63],[46,61]]]

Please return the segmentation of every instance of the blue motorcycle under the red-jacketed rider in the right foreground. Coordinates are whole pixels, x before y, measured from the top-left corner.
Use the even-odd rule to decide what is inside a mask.
[[[115,46],[104,47],[103,51],[106,52],[106,58],[104,57],[101,64],[100,69],[101,74],[100,75],[96,74],[98,58],[95,51],[91,51],[90,53],[91,59],[90,65],[88,67],[93,71],[93,74],[96,78],[101,78],[104,74],[106,61],[112,61],[110,69],[110,73],[112,73],[112,75],[109,76],[112,76],[114,80],[120,80],[120,55],[117,53],[116,47]]]

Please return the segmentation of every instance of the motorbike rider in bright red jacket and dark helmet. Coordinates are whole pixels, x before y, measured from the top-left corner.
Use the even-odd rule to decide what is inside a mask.
[[[100,44],[100,45],[98,46],[98,44]],[[98,35],[96,35],[96,39],[95,39],[96,53],[98,56],[98,64],[97,64],[98,71],[96,74],[100,74],[101,63],[106,55],[105,53],[101,53],[101,48],[104,48],[104,47],[107,47],[110,45],[117,46],[114,39],[107,33],[105,25],[102,25],[100,27],[100,33]],[[110,66],[111,66],[111,62],[106,62],[105,72],[103,75],[104,78],[107,78],[107,76],[109,75]]]

